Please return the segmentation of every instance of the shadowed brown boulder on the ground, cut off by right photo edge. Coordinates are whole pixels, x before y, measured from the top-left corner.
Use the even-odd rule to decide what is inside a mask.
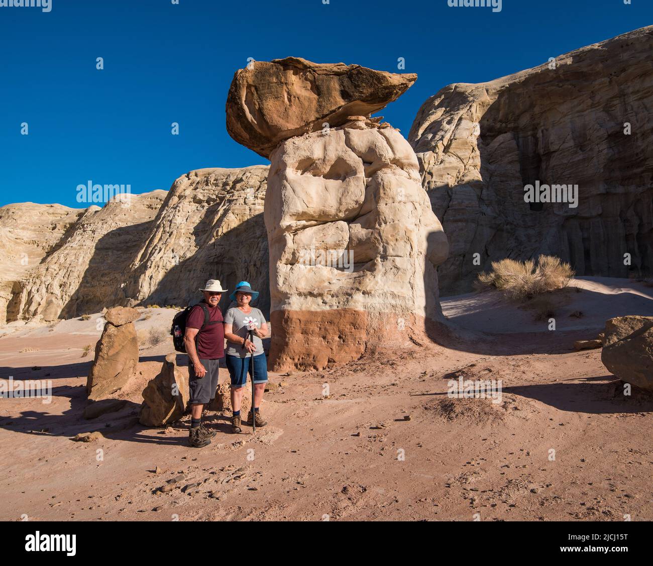
[[[601,361],[620,380],[653,391],[653,317],[620,316],[607,321]]]

